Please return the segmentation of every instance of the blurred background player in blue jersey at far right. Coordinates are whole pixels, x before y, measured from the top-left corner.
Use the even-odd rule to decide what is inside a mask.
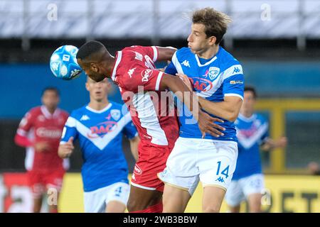
[[[260,160],[260,148],[272,150],[284,148],[287,138],[269,138],[268,122],[260,114],[255,114],[257,94],[253,87],[245,87],[240,114],[235,126],[238,137],[238,160],[226,202],[230,212],[239,212],[241,201],[247,199],[250,212],[261,211],[262,192],[265,188]]]

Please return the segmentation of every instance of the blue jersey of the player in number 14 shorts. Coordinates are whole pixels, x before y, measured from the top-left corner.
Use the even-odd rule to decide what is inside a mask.
[[[242,66],[230,53],[219,47],[217,54],[209,60],[193,54],[190,48],[177,50],[172,61],[166,67],[166,73],[186,74],[193,82],[193,89],[198,96],[209,101],[223,101],[224,96],[239,96],[243,99],[244,77]],[[182,108],[183,107],[183,108]],[[178,116],[181,122],[180,136],[184,138],[202,138],[196,120],[191,111],[178,101]],[[214,116],[219,118],[218,116]],[[218,123],[225,128],[225,135],[215,138],[206,134],[206,139],[237,141],[235,124],[224,118]]]

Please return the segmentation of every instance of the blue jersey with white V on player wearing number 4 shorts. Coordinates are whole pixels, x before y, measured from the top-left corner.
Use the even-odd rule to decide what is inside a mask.
[[[115,182],[128,182],[128,165],[122,151],[122,134],[134,138],[134,127],[127,108],[110,102],[96,111],[83,106],[72,112],[65,123],[61,143],[71,136],[79,140],[82,150],[82,181],[85,192],[107,187]]]

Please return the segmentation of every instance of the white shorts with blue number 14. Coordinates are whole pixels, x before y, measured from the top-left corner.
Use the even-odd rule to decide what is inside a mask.
[[[166,184],[188,191],[191,196],[198,186],[228,189],[235,172],[238,145],[233,141],[181,138],[158,177]]]

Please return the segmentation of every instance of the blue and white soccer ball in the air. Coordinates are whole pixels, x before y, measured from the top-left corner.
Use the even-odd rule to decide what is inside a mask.
[[[78,48],[73,45],[63,45],[53,52],[50,57],[50,70],[59,79],[75,79],[82,72],[75,57]]]

